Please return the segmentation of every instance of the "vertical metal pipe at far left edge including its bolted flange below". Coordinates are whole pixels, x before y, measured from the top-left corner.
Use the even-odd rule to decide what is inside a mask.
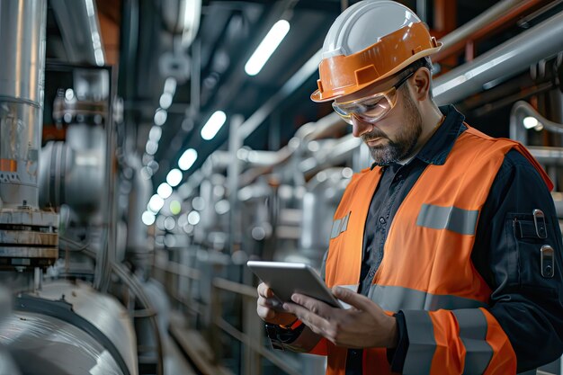
[[[38,210],[46,17],[46,0],[0,2],[0,269],[58,256],[58,215]]]

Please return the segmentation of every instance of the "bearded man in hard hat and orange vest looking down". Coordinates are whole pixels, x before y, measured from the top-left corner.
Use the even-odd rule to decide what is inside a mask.
[[[438,49],[391,1],[354,4],[326,36],[311,98],[375,161],[344,192],[323,266],[352,308],[294,294],[280,312],[260,284],[257,312],[275,346],[327,355],[327,374],[514,374],[561,355],[552,184],[524,147],[433,103]]]

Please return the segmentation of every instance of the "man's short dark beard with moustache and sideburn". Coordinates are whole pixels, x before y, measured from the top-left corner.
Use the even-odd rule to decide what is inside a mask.
[[[405,90],[399,90],[402,95],[404,104],[404,122],[397,124],[398,132],[395,140],[391,140],[387,134],[380,129],[373,127],[369,133],[362,134],[364,142],[368,142],[375,138],[387,139],[386,144],[378,146],[370,146],[371,157],[377,165],[389,165],[397,163],[400,160],[411,156],[416,147],[416,142],[422,133],[422,117],[410,95]]]

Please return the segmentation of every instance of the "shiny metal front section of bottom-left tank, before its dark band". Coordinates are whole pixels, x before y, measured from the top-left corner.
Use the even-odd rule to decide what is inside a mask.
[[[0,321],[0,344],[4,344],[22,374],[122,373],[102,344],[55,317],[15,312]]]

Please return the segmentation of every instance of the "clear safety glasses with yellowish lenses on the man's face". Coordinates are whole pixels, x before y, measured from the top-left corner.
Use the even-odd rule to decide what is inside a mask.
[[[350,102],[333,102],[333,109],[349,124],[352,124],[353,116],[361,121],[370,123],[380,121],[395,107],[395,104],[397,104],[398,88],[407,82],[407,79],[415,74],[415,72],[416,70],[411,71],[407,76],[401,78],[397,84],[383,93],[372,94]]]

